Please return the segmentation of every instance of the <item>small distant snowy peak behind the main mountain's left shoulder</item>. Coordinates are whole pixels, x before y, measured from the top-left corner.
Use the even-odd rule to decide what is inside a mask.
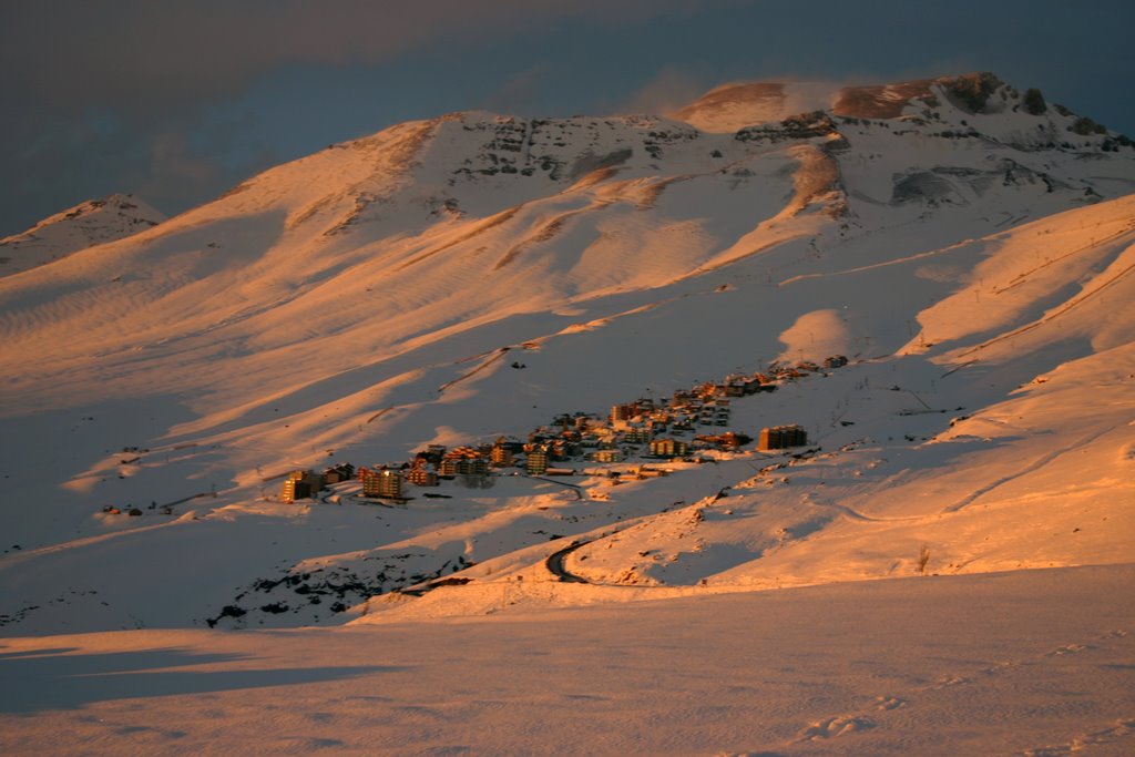
[[[60,260],[157,226],[166,217],[142,200],[112,194],[45,218],[22,234],[0,239],[0,276]]]

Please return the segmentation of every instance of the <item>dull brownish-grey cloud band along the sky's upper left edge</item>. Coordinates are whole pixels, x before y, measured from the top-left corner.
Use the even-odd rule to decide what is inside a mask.
[[[379,65],[476,50],[556,22],[620,25],[676,0],[41,0],[0,7],[0,86],[58,110],[153,113],[230,96],[286,65]]]

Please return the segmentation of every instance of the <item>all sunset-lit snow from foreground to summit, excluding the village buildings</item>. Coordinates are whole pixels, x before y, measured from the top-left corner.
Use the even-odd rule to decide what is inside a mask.
[[[48,219],[0,278],[0,750],[1128,754],[1133,188],[975,75],[451,113]],[[806,446],[279,499],[808,362],[683,437]]]

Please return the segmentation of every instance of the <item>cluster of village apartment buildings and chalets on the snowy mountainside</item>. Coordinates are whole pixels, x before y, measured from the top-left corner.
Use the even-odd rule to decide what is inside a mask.
[[[844,364],[847,358],[842,355],[824,361],[827,369]],[[407,487],[436,487],[443,479],[486,486],[488,477],[502,469],[521,469],[529,476],[570,476],[575,473],[578,462],[690,459],[707,449],[734,451],[753,439],[722,430],[730,426],[733,398],[775,392],[781,381],[821,370],[819,365],[806,361],[794,365],[774,364],[767,372],[734,375],[723,381],[679,389],[670,398],[640,397],[632,403],[617,404],[606,417],[558,415],[550,424],[535,429],[527,440],[502,436],[491,444],[452,449],[430,445],[398,465],[355,470],[350,464],[340,464],[328,468],[322,474],[297,470],[284,482],[281,499],[295,502],[314,497],[326,485],[358,478],[364,498],[405,502]],[[800,426],[776,426],[760,431],[762,449],[805,444],[807,434]]]

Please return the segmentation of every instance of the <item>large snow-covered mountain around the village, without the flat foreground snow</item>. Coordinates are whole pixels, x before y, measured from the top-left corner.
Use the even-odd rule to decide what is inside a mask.
[[[1133,190],[1129,140],[990,75],[452,113],[276,167],[0,280],[0,621],[364,623],[1129,562]],[[628,447],[405,507],[358,482],[277,499],[295,468],[832,355],[731,402],[729,430],[801,424],[791,454],[656,478]]]

